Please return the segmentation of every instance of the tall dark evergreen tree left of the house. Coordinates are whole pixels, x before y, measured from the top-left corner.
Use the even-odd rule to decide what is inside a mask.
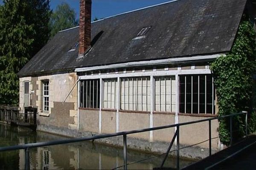
[[[0,6],[0,104],[17,105],[17,72],[49,37],[49,0],[3,0]]]

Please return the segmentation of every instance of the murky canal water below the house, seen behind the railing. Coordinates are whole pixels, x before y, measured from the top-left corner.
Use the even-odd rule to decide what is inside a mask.
[[[23,127],[0,124],[0,147],[17,144],[67,139],[44,132],[34,132]],[[167,148],[166,148],[167,149]],[[156,155],[128,150],[128,163]],[[153,169],[160,167],[163,156],[128,165],[128,169]],[[194,161],[180,160],[180,167]],[[92,142],[38,147],[30,150],[30,169],[114,169],[123,165],[122,148]],[[24,150],[0,152],[0,169],[24,169]],[[168,158],[165,167],[175,167],[175,159]],[[120,167],[119,169],[123,169]]]

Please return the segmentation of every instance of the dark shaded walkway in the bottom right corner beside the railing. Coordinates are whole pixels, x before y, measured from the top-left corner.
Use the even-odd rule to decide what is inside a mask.
[[[256,135],[248,136],[232,147],[228,147],[210,157],[183,168],[183,170],[205,169],[256,170]]]

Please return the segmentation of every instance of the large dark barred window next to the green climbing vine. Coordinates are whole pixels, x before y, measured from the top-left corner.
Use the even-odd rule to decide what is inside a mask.
[[[180,113],[215,114],[215,89],[211,74],[180,77]]]

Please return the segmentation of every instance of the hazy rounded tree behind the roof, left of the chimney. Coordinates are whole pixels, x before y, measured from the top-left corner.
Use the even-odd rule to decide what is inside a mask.
[[[58,31],[78,26],[75,10],[70,8],[67,3],[58,5],[51,15],[49,25],[51,28],[51,37],[57,34]]]

